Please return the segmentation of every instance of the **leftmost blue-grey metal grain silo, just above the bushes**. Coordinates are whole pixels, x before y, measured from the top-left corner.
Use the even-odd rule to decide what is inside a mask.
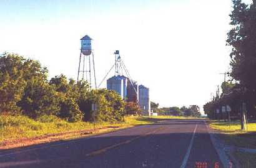
[[[114,76],[107,80],[107,89],[115,90],[121,98],[124,98],[124,78],[122,76]]]

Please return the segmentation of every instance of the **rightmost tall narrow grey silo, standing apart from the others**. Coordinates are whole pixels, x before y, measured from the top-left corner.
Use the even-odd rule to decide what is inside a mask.
[[[139,106],[143,115],[150,115],[149,88],[144,85],[139,85]]]

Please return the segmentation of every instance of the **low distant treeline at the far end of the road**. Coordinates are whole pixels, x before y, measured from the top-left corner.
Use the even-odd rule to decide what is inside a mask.
[[[193,116],[200,117],[200,108],[197,105],[190,105],[189,107],[182,106],[181,108],[174,106],[170,108],[159,108],[158,103],[150,103],[152,110],[159,115],[172,115],[172,116]]]

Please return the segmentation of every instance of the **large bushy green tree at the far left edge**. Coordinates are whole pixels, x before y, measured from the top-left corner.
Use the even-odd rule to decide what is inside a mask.
[[[0,58],[0,107],[12,114],[55,113],[54,93],[47,85],[47,68],[35,60],[4,53]]]

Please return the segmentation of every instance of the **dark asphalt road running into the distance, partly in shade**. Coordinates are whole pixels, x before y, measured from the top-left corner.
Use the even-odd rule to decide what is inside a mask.
[[[202,120],[169,120],[0,151],[0,167],[222,167]]]

